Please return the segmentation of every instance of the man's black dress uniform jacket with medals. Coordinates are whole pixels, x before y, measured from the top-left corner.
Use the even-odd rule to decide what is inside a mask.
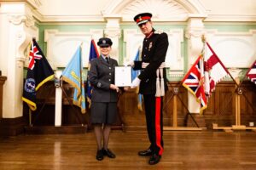
[[[143,40],[142,60],[134,61],[134,70],[142,70],[138,78],[140,83],[140,94],[155,94],[156,91],[156,70],[162,62],[166,60],[166,52],[169,46],[168,37],[165,32],[158,33],[153,30],[149,37]],[[149,65],[142,69],[142,62]],[[164,69],[165,90],[166,85],[166,69]]]

